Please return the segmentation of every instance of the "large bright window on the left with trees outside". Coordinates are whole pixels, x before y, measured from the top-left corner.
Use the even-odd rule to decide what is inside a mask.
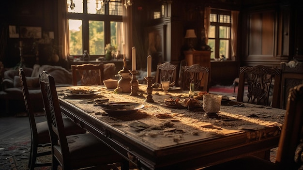
[[[88,50],[96,58],[104,56],[106,44],[122,51],[121,0],[66,0],[69,27],[69,53]]]

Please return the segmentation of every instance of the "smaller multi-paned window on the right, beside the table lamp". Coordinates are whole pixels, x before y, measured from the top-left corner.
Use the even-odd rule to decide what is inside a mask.
[[[231,56],[231,14],[229,11],[212,10],[208,31],[208,45],[212,48],[211,59],[228,59]]]

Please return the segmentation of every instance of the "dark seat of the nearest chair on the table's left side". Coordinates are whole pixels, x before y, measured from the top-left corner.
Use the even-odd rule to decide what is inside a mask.
[[[120,155],[90,133],[71,135],[66,138],[70,152],[69,159],[73,162],[71,168],[98,166],[123,160]],[[54,148],[56,152],[60,151],[59,145],[55,145]]]

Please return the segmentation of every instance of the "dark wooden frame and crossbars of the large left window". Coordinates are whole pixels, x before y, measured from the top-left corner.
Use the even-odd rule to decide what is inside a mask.
[[[121,0],[121,4],[122,0]],[[89,21],[103,21],[104,22],[104,43],[110,44],[110,22],[122,22],[122,15],[109,15],[109,2],[104,4],[103,6],[105,8],[105,14],[88,14],[87,10],[87,0],[83,0],[83,13],[69,13],[66,12],[66,22],[68,22],[69,19],[78,19],[82,20],[82,53],[84,53],[84,50],[87,50],[90,54],[89,49]],[[123,9],[124,6],[122,6]],[[69,39],[69,37],[68,37]],[[122,46],[122,45],[121,45]],[[70,53],[70,52],[69,52]],[[70,55],[72,55],[70,53]],[[80,55],[73,55],[73,56],[80,56]],[[104,57],[105,54],[101,55],[91,55],[93,58],[98,57]]]

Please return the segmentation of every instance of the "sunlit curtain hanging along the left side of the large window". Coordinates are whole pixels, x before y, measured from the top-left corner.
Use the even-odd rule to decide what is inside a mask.
[[[69,53],[69,30],[67,23],[67,6],[66,0],[58,0],[58,35],[59,35],[59,53],[62,59],[67,59]]]

